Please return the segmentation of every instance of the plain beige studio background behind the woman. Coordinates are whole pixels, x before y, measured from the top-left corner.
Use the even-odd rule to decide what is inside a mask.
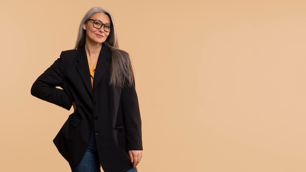
[[[139,172],[306,171],[305,0],[1,0],[0,171],[68,172],[69,111],[30,95],[93,6],[131,54]]]

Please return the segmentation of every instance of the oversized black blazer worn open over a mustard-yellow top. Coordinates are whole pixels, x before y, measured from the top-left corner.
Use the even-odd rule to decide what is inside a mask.
[[[132,168],[128,150],[142,150],[141,119],[134,83],[110,86],[110,64],[111,52],[103,44],[91,86],[85,48],[63,51],[31,94],[66,109],[75,102],[76,110],[53,140],[71,165],[80,162],[94,132],[103,170],[125,172]]]

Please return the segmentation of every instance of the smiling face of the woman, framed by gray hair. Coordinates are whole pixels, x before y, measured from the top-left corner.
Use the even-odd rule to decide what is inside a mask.
[[[101,21],[104,24],[110,24],[109,16],[104,13],[97,13],[91,16],[90,19]],[[109,36],[109,32],[104,31],[104,26],[97,29],[93,27],[93,21],[91,20],[83,24],[83,29],[86,30],[86,43],[101,44],[104,43]]]

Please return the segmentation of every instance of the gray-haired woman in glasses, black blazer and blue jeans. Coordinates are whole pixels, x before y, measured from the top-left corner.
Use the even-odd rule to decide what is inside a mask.
[[[53,140],[72,172],[100,172],[100,164],[105,172],[137,172],[142,140],[133,71],[108,10],[87,12],[75,49],[61,53],[31,94],[66,109],[73,106]]]

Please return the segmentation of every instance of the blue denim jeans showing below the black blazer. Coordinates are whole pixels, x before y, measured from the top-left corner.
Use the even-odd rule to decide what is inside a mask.
[[[100,166],[96,140],[92,132],[89,145],[81,162],[75,166],[70,165],[70,167],[72,172],[101,172]],[[137,172],[137,169],[135,167],[127,172]]]

